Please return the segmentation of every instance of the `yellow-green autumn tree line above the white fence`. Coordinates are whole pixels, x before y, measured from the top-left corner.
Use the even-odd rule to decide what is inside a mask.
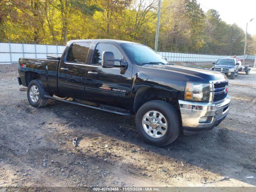
[[[109,38],[154,47],[158,0],[0,0],[0,42],[66,44]],[[244,31],[196,0],[162,0],[159,50],[243,54]],[[248,54],[256,54],[248,34]]]

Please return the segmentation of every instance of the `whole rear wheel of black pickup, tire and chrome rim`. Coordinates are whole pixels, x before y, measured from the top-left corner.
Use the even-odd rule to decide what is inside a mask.
[[[46,106],[48,99],[44,98],[45,95],[48,95],[48,93],[44,91],[44,88],[40,80],[32,80],[28,84],[28,91],[27,91],[28,102],[33,107]]]

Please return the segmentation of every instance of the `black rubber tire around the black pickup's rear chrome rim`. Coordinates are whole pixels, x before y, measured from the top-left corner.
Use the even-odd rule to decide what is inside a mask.
[[[39,91],[38,100],[36,101],[32,101],[32,99],[30,98],[30,88],[32,86],[36,86],[36,88],[38,88],[38,91]],[[28,91],[27,91],[28,102],[30,103],[30,105],[37,108],[46,106],[48,99],[44,97],[45,95],[48,95],[48,93],[44,90],[40,80],[30,81],[30,83],[28,84]]]

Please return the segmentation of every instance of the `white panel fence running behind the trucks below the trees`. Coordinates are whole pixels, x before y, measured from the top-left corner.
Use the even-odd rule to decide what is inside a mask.
[[[42,45],[42,44],[20,44],[0,43],[0,64],[17,63],[19,58],[46,58],[46,55],[61,56],[65,46]],[[159,52],[159,54],[170,62],[215,62],[219,58],[233,56],[227,55],[203,55],[188,53]],[[243,60],[243,56],[236,56]],[[246,59],[255,59],[255,55],[246,55]]]

